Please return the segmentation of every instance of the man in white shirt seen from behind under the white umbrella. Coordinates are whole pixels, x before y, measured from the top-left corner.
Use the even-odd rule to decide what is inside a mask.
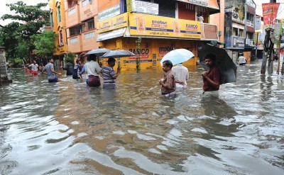
[[[185,88],[187,86],[188,80],[188,69],[187,67],[182,66],[182,64],[177,64],[172,68],[173,77],[175,77],[175,86],[177,88]]]

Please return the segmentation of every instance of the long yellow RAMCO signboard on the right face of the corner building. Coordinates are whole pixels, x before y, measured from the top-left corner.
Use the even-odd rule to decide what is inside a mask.
[[[129,13],[130,35],[174,38],[201,38],[199,21],[189,21],[141,13]]]

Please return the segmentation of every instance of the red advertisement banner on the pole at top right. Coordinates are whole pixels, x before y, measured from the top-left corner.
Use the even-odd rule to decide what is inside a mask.
[[[264,28],[274,28],[279,3],[262,4]]]

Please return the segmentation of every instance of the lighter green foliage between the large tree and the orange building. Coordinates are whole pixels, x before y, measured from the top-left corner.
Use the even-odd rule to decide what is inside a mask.
[[[35,53],[40,57],[47,57],[55,51],[55,38],[58,35],[53,31],[44,31],[43,33],[31,36],[35,45]]]

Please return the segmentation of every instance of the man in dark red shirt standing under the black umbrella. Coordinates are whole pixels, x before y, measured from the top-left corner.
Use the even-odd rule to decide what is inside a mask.
[[[215,65],[216,56],[208,54],[205,57],[205,64],[209,67],[207,71],[202,72],[203,94],[202,96],[218,97],[218,90],[221,81],[221,75],[218,67]]]

